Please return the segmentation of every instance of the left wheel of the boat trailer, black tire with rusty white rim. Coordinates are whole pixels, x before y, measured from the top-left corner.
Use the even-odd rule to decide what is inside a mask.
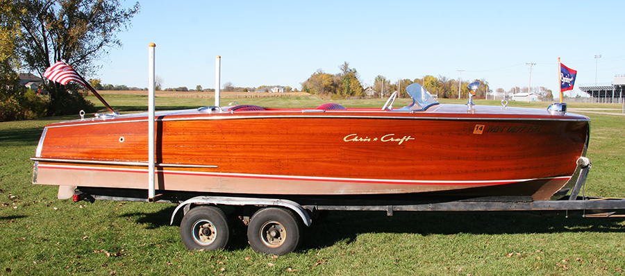
[[[201,206],[191,209],[180,223],[180,236],[189,250],[226,248],[231,227],[222,209]]]

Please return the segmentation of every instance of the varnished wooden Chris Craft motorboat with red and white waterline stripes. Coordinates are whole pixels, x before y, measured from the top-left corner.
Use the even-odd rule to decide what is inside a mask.
[[[531,196],[565,189],[590,119],[554,111],[413,103],[382,109],[253,105],[156,112],[156,190],[211,194]],[[148,115],[44,128],[33,183],[147,189]]]

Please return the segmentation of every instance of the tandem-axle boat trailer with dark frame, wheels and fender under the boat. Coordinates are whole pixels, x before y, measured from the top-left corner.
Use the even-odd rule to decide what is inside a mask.
[[[590,161],[578,160],[572,189],[558,200],[532,200],[530,196],[497,196],[481,198],[427,198],[419,200],[367,200],[363,198],[258,198],[255,196],[198,195],[176,191],[159,191],[152,200],[146,190],[78,187],[74,201],[122,200],[179,203],[170,224],[182,216],[181,239],[190,250],[226,248],[231,223],[235,217],[247,225],[251,248],[269,255],[294,251],[301,238],[301,225],[310,226],[315,215],[328,211],[381,211],[392,217],[394,212],[540,212],[542,215],[585,217],[625,217],[624,198],[590,198],[579,196]],[[122,191],[123,190],[123,191]],[[226,215],[224,209],[230,211]],[[232,210],[234,209],[234,211]]]

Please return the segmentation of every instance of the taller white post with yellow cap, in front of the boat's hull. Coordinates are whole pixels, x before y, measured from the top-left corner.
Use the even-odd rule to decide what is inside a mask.
[[[148,183],[148,200],[152,202],[154,200],[154,196],[156,193],[156,185],[154,176],[156,174],[156,139],[154,133],[154,109],[155,103],[154,100],[156,98],[156,93],[154,90],[156,89],[155,83],[155,66],[154,66],[154,50],[156,49],[156,44],[150,43],[148,47],[148,175],[149,175],[149,183]]]

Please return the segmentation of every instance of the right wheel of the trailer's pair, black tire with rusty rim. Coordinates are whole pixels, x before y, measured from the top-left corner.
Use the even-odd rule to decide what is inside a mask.
[[[285,255],[299,244],[301,225],[288,209],[267,207],[251,217],[247,239],[251,248],[259,253]]]

